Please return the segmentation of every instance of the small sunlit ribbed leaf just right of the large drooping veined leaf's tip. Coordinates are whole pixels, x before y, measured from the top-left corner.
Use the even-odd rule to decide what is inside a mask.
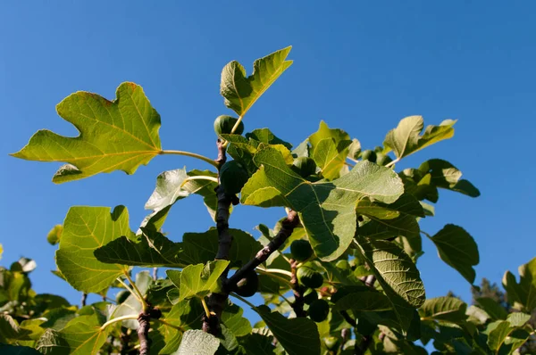
[[[456,297],[436,297],[424,301],[419,309],[422,318],[463,323],[467,304]]]

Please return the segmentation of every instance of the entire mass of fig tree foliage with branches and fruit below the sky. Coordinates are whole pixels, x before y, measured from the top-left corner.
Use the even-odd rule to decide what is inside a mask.
[[[269,128],[242,135],[247,112],[292,64],[289,51],[255,61],[250,76],[239,62],[223,68],[221,94],[239,117],[225,127],[216,125],[214,161],[162,149],[160,115],[136,84],[121,84],[113,102],[78,92],[58,104],[59,115],[80,135],[41,130],[13,154],[66,163],[54,183],[118,169],[132,174],[165,154],[194,157],[212,169],[159,175],[146,204],[151,213],[136,232],[124,206],[71,207],[47,240],[59,243],[55,274],[83,293],[82,305],[33,292],[32,260],[3,268],[4,352],[426,353],[415,344],[420,340],[433,342],[436,353],[502,354],[533,336],[536,259],[520,268],[519,282],[505,275],[508,311],[489,297],[470,307],[454,297],[425,298],[416,266],[422,235],[470,284],[479,253],[464,228],[448,224],[432,235],[421,230],[420,220],[434,215],[431,203],[438,202],[440,189],[472,197],[480,193],[448,161],[432,159],[402,171],[396,164],[452,137],[455,121],[423,131],[422,117],[407,117],[373,150],[362,150],[356,138],[323,121],[294,149]],[[228,155],[240,169],[225,168],[220,179]],[[161,228],[173,204],[190,194],[203,196],[216,227],[172,242]],[[286,217],[273,229],[259,225],[255,239],[229,227],[231,205],[239,203],[282,207]],[[294,260],[289,246],[298,240],[312,251]],[[133,267],[166,268],[166,273],[151,277]],[[239,288],[244,280],[255,280],[247,292]],[[264,304],[239,295],[255,290]],[[119,291],[124,291],[120,301],[106,297]],[[85,305],[87,293],[98,293],[103,301]],[[252,326],[232,299],[244,301],[262,321]]]

